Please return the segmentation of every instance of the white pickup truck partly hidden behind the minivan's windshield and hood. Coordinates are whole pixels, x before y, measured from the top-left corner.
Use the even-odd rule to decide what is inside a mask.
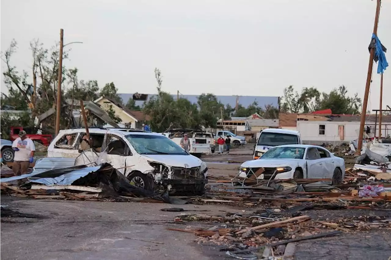
[[[172,129],[170,132],[162,134],[180,145],[185,133],[188,134],[188,138],[190,139],[190,154],[201,157],[203,154],[212,153],[210,140],[203,132],[193,132],[190,129]]]

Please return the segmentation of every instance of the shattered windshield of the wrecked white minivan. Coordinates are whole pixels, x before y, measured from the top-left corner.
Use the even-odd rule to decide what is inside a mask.
[[[126,139],[139,154],[188,155],[178,144],[164,135],[126,135]]]

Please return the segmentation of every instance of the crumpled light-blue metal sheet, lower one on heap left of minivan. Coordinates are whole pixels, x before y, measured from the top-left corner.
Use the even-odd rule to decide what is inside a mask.
[[[93,166],[93,167],[84,167],[81,169],[76,169],[69,173],[65,173],[63,175],[54,177],[54,178],[39,178],[36,180],[30,180],[30,182],[41,183],[44,185],[71,185],[76,180],[87,176],[90,173],[98,171],[102,166]]]

